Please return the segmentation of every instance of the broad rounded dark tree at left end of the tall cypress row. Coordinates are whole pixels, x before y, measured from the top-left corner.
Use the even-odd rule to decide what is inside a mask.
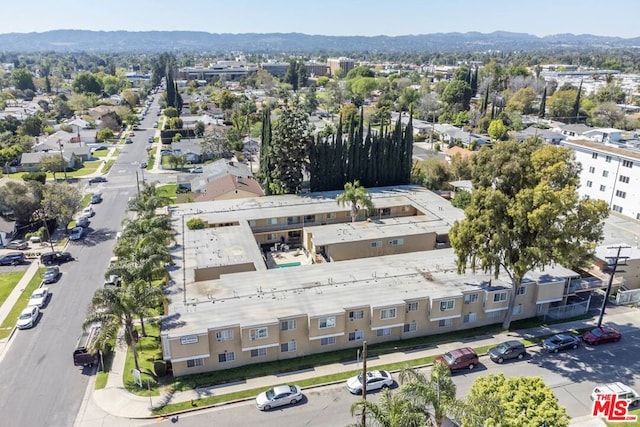
[[[308,116],[297,100],[289,101],[281,107],[280,117],[273,126],[273,193],[296,194],[300,191],[310,143]]]

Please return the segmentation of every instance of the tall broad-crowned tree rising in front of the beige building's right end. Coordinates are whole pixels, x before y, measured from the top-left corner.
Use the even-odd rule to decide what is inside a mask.
[[[511,279],[503,328],[527,272],[551,263],[583,265],[602,239],[606,202],[580,199],[580,166],[569,149],[499,142],[473,157],[473,193],[449,233],[458,270],[482,268]]]

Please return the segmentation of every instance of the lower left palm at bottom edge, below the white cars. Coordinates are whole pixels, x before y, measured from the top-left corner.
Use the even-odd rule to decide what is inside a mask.
[[[419,427],[425,423],[425,416],[420,408],[413,407],[412,403],[399,393],[392,395],[387,388],[382,390],[377,403],[365,399],[353,402],[351,416],[354,416],[356,411],[367,411],[369,420],[381,427]]]

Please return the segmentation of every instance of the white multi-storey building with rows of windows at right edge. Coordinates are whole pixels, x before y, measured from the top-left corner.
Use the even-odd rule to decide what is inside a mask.
[[[580,196],[604,200],[609,208],[640,219],[640,151],[588,140],[566,140],[582,165]]]

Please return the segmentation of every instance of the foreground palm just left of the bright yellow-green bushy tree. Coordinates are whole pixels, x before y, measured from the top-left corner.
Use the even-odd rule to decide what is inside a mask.
[[[431,422],[440,427],[449,413],[457,413],[461,403],[456,399],[456,385],[444,363],[434,363],[429,377],[412,368],[400,373],[400,394],[421,408]]]

